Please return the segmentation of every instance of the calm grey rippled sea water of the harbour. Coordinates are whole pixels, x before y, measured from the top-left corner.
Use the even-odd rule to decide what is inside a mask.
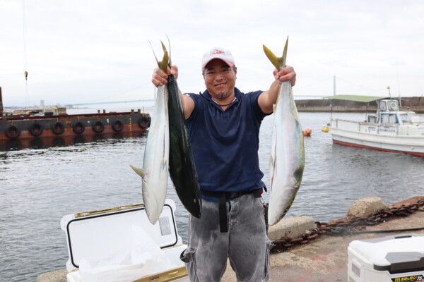
[[[151,113],[153,108],[145,111]],[[365,118],[364,114],[334,116]],[[333,145],[331,136],[321,131],[329,117],[329,113],[300,113],[303,128],[311,128],[312,136],[305,138],[302,186],[287,216],[329,221],[345,216],[362,197],[381,197],[391,204],[424,195],[424,159]],[[265,118],[259,149],[268,185],[271,124],[272,116]],[[4,148],[0,152],[0,281],[35,281],[39,274],[65,268],[68,252],[60,228],[62,216],[141,202],[141,180],[129,164],[142,166],[146,136],[98,136],[57,147],[33,142],[25,148],[15,143]],[[177,203],[177,228],[187,243],[187,212],[172,184],[168,197]]]

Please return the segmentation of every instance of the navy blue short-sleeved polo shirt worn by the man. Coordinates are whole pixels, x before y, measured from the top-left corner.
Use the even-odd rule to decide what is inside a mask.
[[[195,106],[186,122],[201,190],[244,192],[264,187],[258,149],[259,127],[267,114],[258,104],[261,93],[235,88],[235,100],[225,111],[208,90],[188,94]]]

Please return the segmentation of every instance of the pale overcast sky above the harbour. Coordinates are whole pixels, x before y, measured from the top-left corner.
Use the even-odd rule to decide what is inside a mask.
[[[201,56],[216,46],[242,92],[266,90],[262,44],[279,56],[289,36],[295,95],[331,95],[336,76],[337,94],[421,96],[423,15],[419,0],[0,0],[0,87],[5,106],[153,99],[148,42],[162,56],[167,35],[182,92],[204,91]]]

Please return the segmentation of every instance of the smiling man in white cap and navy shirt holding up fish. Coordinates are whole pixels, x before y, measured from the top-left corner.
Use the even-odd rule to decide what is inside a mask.
[[[156,68],[152,82],[165,85],[167,73]],[[218,282],[227,258],[237,281],[268,281],[269,250],[259,169],[259,127],[273,111],[280,82],[295,85],[287,66],[274,70],[265,92],[244,94],[235,87],[237,68],[227,49],[213,48],[202,59],[206,91],[180,94],[202,195],[200,219],[189,217],[189,243],[182,254],[192,282]]]

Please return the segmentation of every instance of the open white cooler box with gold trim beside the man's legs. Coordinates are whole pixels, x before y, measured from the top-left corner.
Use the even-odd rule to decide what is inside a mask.
[[[182,239],[177,233],[175,202],[169,199],[165,201],[163,212],[154,225],[148,221],[143,204],[131,204],[64,216],[61,219],[61,229],[66,233],[69,253],[69,260],[66,262],[66,269],[69,272],[67,281],[85,282],[78,270],[83,259],[93,257],[101,259],[103,256],[110,256],[110,250],[125,250],[125,252],[128,250],[130,252],[132,248],[130,237],[134,228],[139,228],[138,230],[142,228],[143,234],[150,235],[148,238],[150,243],[153,239],[155,248],[158,249],[160,246],[160,249],[165,252],[165,257],[175,267],[141,276],[133,281],[189,282],[184,263],[179,259],[179,255],[187,245],[182,244]],[[158,252],[161,251],[158,249]]]

